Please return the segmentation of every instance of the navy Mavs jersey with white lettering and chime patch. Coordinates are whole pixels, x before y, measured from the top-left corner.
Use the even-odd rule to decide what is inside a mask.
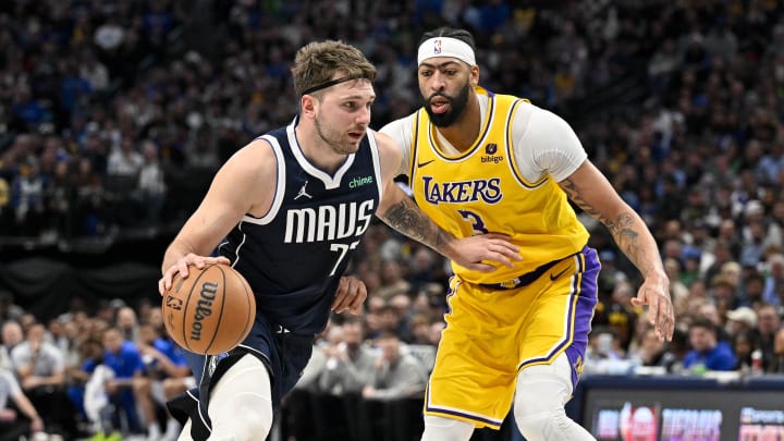
[[[381,167],[368,134],[334,174],[317,169],[297,143],[296,123],[261,136],[278,159],[272,207],[260,218],[246,215],[220,254],[250,283],[257,314],[286,331],[315,334],[326,327],[340,277],[378,208]]]

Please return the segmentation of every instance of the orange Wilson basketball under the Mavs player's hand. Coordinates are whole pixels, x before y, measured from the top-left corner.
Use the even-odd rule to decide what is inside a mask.
[[[196,354],[232,350],[250,332],[256,297],[245,278],[226,265],[188,267],[163,295],[163,323],[180,346]]]

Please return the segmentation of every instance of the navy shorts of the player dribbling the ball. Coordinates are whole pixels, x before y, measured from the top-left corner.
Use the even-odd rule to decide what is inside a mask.
[[[182,425],[191,418],[191,437],[195,441],[206,440],[212,430],[208,414],[210,390],[246,354],[257,357],[267,367],[272,381],[272,409],[277,412],[281,400],[294,388],[308,364],[314,338],[311,334],[289,332],[266,317],[256,315],[245,341],[228,354],[207,357],[199,387],[167,403],[169,412]]]

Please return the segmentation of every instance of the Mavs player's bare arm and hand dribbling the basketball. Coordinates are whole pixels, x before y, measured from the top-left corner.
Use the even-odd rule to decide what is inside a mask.
[[[158,282],[161,295],[171,287],[174,274],[188,274],[188,267],[229,264],[225,257],[209,257],[226,234],[247,213],[264,213],[274,196],[274,152],[257,139],[240,149],[218,171],[199,207],[169,245]]]

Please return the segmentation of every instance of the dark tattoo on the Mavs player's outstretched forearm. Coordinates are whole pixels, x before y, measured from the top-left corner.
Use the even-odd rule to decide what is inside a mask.
[[[403,199],[380,217],[388,225],[408,237],[442,252],[444,244],[450,242],[446,232],[436,225],[412,199]]]

